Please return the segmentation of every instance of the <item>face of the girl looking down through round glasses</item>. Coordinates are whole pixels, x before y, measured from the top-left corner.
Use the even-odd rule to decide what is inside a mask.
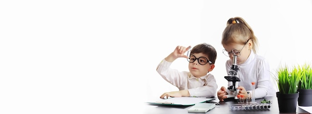
[[[233,60],[234,54],[237,55],[237,64],[244,63],[250,55],[252,49],[252,42],[248,40],[245,45],[241,44],[228,44],[223,45],[225,51],[228,53],[231,60]],[[224,53],[226,53],[224,52]]]

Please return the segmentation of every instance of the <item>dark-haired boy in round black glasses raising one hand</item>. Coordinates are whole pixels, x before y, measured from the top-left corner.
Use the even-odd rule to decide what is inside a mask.
[[[217,83],[212,74],[217,52],[209,44],[196,45],[190,52],[189,57],[184,53],[190,47],[177,46],[175,50],[165,57],[157,66],[156,71],[161,77],[179,91],[163,93],[160,98],[168,97],[214,97],[216,95]],[[189,71],[178,71],[170,68],[171,63],[178,57],[188,60]]]

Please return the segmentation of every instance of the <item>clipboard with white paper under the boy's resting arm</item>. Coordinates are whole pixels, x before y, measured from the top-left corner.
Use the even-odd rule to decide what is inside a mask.
[[[206,101],[215,100],[215,98],[201,98],[201,97],[172,97],[168,99],[159,100],[156,102],[148,102],[156,105],[173,105],[173,106],[192,106],[197,103],[204,103]]]

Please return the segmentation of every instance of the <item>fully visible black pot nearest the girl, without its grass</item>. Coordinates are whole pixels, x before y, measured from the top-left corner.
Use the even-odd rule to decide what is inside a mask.
[[[280,94],[276,92],[280,113],[296,113],[299,92],[296,94]]]

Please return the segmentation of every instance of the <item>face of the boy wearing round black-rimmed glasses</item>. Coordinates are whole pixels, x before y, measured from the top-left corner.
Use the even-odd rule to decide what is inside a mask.
[[[210,72],[214,68],[214,64],[210,64],[208,62],[208,60],[209,60],[208,56],[206,56],[202,53],[192,54],[190,59],[191,59],[191,61],[192,60],[195,60],[195,61],[188,63],[188,69],[189,69],[190,73],[197,78],[206,75],[208,73],[208,71]],[[201,62],[201,64],[199,62]],[[205,62],[207,62],[207,63],[204,64]],[[204,64],[204,65],[202,65],[202,64]]]

